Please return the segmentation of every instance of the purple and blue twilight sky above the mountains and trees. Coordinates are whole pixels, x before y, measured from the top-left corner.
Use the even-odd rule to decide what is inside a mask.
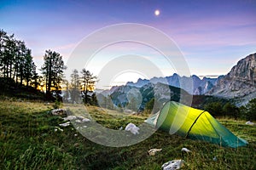
[[[26,42],[39,69],[47,49],[60,53],[68,67],[68,61],[75,58],[74,51],[86,37],[108,26],[136,23],[169,37],[177,46],[176,50],[183,54],[191,75],[218,76],[227,74],[239,59],[256,52],[255,8],[256,0],[1,0],[0,29],[9,35],[14,33],[17,39]],[[155,15],[155,10],[160,14]],[[116,35],[124,32],[118,30]],[[140,37],[143,31],[133,34]],[[147,37],[147,41],[154,41],[154,36]],[[101,41],[98,37],[93,42]],[[84,47],[84,50],[88,48]],[[129,59],[134,59],[131,55],[137,56],[136,63],[141,62],[144,70],[156,66],[163,76],[171,76],[176,71],[175,66],[166,65],[165,58],[154,48],[134,42],[108,45],[96,53],[88,68],[98,75],[104,66],[107,65],[106,69],[111,67],[108,63],[112,60],[113,65],[131,62]],[[117,59],[120,56],[122,60]],[[149,59],[155,65],[149,68],[148,61],[143,62],[143,59]],[[79,59],[74,60],[79,63]],[[75,69],[73,66],[69,69]],[[109,84],[102,86],[152,76],[154,73],[147,74],[147,71],[119,70],[116,75],[109,76]]]

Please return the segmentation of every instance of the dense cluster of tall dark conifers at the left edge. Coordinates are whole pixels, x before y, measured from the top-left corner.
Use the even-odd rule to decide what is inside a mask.
[[[36,65],[32,61],[31,50],[26,48],[25,42],[0,30],[0,76],[15,80],[16,86],[22,86],[26,80],[28,86],[33,74],[36,74]]]

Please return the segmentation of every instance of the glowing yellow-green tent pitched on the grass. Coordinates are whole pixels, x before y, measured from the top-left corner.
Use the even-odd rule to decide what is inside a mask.
[[[161,111],[145,122],[158,129],[177,133],[189,139],[199,139],[236,148],[247,145],[247,141],[236,137],[207,111],[198,110],[180,103],[169,101]]]

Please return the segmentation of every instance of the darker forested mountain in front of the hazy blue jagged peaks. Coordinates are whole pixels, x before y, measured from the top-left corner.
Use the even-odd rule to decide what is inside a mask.
[[[189,105],[189,101],[180,99],[191,99],[191,95],[181,88],[169,86],[164,83],[146,83],[143,87],[117,86],[96,94],[99,105],[113,109],[123,107],[125,110],[142,111],[145,105],[154,98],[154,110],[160,110],[161,106],[169,100],[179,101]],[[186,103],[187,102],[187,103]]]

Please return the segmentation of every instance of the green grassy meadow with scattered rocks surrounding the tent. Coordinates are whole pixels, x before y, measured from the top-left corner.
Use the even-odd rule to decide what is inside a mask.
[[[219,120],[231,132],[247,139],[247,147],[222,148],[157,131],[141,143],[114,148],[91,142],[73,126],[55,132],[63,120],[51,115],[53,105],[0,100],[0,169],[160,169],[166,161],[181,158],[186,162],[183,169],[256,169],[256,127],[243,121]],[[96,122],[113,129],[129,122],[139,125],[145,119],[115,111],[107,114],[97,107],[87,109]],[[192,152],[182,156],[183,147]],[[162,150],[149,156],[152,148]],[[213,161],[213,157],[217,160]]]

